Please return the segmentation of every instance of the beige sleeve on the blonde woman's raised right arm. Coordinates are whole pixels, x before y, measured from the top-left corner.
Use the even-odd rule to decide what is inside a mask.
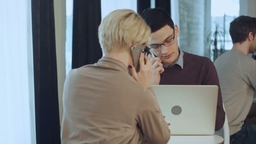
[[[149,144],[167,144],[171,133],[152,88],[144,90],[139,103],[137,122],[146,141]]]

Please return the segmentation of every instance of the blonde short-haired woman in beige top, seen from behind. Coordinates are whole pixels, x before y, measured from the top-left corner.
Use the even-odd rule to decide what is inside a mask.
[[[99,26],[103,57],[69,72],[64,84],[62,144],[166,144],[170,139],[151,83],[151,61],[135,44],[148,44],[150,28],[134,11],[109,13]],[[131,75],[129,75],[131,71]]]

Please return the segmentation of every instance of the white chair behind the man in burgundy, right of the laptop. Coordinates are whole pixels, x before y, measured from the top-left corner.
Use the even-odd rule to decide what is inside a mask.
[[[223,109],[225,111],[224,104],[223,104]],[[225,114],[225,122],[224,122],[223,128],[221,128],[219,131],[216,131],[215,134],[222,136],[224,138],[223,144],[229,144],[229,123],[227,121],[227,114]]]

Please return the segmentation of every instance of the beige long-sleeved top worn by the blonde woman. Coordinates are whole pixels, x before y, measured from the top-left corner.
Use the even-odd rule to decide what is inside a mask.
[[[64,84],[62,144],[164,144],[170,139],[155,94],[125,65],[103,57],[69,72]]]

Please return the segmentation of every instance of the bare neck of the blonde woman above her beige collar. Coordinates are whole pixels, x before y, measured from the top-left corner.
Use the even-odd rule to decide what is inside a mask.
[[[103,54],[103,56],[116,59],[118,61],[121,61],[125,64],[125,67],[128,67],[129,63],[129,53],[125,51],[111,51],[111,52],[106,52]]]

